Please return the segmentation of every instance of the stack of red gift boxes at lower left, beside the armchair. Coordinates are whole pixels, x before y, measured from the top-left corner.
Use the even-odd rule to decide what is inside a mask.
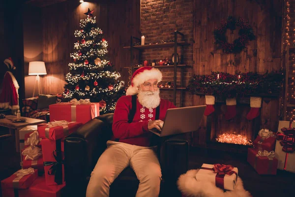
[[[63,139],[82,123],[54,121],[25,134],[22,167],[1,181],[3,197],[60,197],[65,187]],[[41,140],[42,139],[42,140]],[[40,143],[41,142],[41,143]],[[44,171],[43,176],[38,172]]]

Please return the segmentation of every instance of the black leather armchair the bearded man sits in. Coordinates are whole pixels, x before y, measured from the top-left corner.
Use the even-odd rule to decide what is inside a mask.
[[[104,114],[65,138],[65,180],[70,195],[85,197],[90,173],[112,136],[112,124],[113,114]],[[184,134],[173,135],[161,138],[160,146],[158,158],[163,175],[160,196],[181,196],[176,181],[188,169],[189,141]],[[135,197],[138,185],[136,174],[127,167],[112,183],[110,196]]]

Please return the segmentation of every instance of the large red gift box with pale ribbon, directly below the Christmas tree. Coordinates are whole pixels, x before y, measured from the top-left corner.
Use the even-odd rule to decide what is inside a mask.
[[[87,123],[89,120],[99,116],[99,103],[72,104],[60,102],[49,105],[50,121],[66,120],[68,122]]]

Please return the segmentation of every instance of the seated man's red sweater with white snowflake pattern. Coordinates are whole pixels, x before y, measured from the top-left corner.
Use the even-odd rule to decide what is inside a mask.
[[[122,96],[118,99],[113,118],[112,140],[119,139],[137,146],[149,146],[152,132],[148,131],[148,121],[155,120],[156,108],[146,108],[136,99],[136,112],[132,123],[128,123],[128,115],[132,108],[132,96]],[[163,120],[167,109],[176,108],[169,100],[161,99],[159,119]]]

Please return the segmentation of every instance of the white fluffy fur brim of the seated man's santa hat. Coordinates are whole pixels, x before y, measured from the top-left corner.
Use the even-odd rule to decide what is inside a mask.
[[[145,70],[141,73],[138,73],[132,79],[132,85],[133,87],[137,88],[139,85],[143,84],[145,81],[148,81],[149,79],[157,79],[158,82],[162,81],[161,71],[157,68],[151,68],[150,70]]]

